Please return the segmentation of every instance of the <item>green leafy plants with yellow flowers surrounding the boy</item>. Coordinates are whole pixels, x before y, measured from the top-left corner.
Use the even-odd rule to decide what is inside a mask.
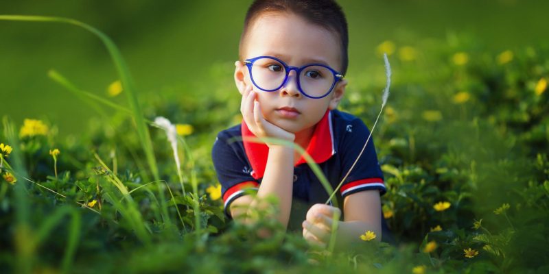
[[[395,80],[373,138],[394,245],[362,242],[328,254],[268,218],[254,227],[226,219],[209,154],[215,133],[240,123],[240,99],[231,65],[215,64],[207,86],[140,98],[149,120],[165,116],[186,124],[180,133],[187,147],[178,151],[183,184],[164,132],[154,127],[162,180],[152,181],[124,112],[90,121],[88,132],[66,138],[56,134],[54,121],[28,121],[31,128],[25,121],[14,128],[19,145],[8,138],[11,123],[4,123],[0,142],[13,151],[2,153],[2,269],[547,273],[549,49],[494,53],[456,37],[413,46],[386,41],[379,50],[388,46]],[[347,78],[341,109],[371,125],[381,104],[383,62]],[[60,150],[55,162],[52,149]],[[19,170],[18,156],[24,162]],[[159,192],[167,197],[167,215]],[[259,229],[270,229],[271,236],[259,238]]]

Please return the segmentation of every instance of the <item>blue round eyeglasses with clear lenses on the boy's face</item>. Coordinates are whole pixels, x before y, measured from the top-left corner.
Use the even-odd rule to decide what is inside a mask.
[[[288,80],[290,71],[296,71],[299,92],[312,99],[329,95],[336,83],[343,78],[343,75],[324,64],[288,66],[272,56],[246,59],[244,64],[248,66],[254,86],[267,92],[279,90]]]

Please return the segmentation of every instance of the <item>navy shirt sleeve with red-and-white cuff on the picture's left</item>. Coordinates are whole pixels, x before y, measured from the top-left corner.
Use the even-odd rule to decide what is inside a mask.
[[[250,175],[251,168],[242,141],[231,141],[230,136],[226,135],[223,132],[218,134],[213,143],[211,158],[221,184],[224,212],[231,218],[231,203],[246,195],[247,190],[257,190],[259,182]]]

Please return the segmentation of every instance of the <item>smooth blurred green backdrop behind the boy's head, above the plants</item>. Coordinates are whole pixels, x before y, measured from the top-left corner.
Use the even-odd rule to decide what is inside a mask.
[[[212,69],[227,68],[226,77],[215,82],[234,85],[231,64],[250,2],[1,1],[0,14],[65,16],[97,27],[121,49],[142,104],[148,95],[167,94],[184,103],[198,87],[204,90],[209,77],[220,75]],[[548,44],[549,1],[338,2],[349,22],[349,75],[369,73],[364,68],[379,62],[376,47],[384,40],[399,46],[430,39],[452,44],[459,36],[469,40],[469,47],[478,44],[495,52]],[[102,97],[108,97],[107,86],[118,78],[97,38],[63,24],[0,21],[0,60],[0,114],[18,124],[25,118],[47,119],[62,135],[78,135],[95,112],[52,82],[47,71],[56,69]],[[113,100],[126,103],[124,93]]]

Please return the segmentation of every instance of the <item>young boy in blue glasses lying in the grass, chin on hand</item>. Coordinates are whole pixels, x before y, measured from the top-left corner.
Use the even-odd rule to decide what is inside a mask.
[[[256,0],[240,39],[235,83],[244,121],[218,134],[212,158],[226,214],[263,208],[262,197],[279,200],[277,220],[303,230],[325,246],[339,222],[338,245],[360,241],[371,230],[382,238],[383,174],[370,141],[338,193],[341,210],[325,205],[329,194],[305,160],[290,147],[246,137],[294,142],[312,156],[336,188],[360,153],[369,129],[336,110],[347,86],[347,22],[331,0]],[[242,138],[242,142],[233,142]],[[232,142],[231,142],[232,141]],[[257,199],[244,190],[257,190]],[[247,220],[250,221],[250,220]]]

